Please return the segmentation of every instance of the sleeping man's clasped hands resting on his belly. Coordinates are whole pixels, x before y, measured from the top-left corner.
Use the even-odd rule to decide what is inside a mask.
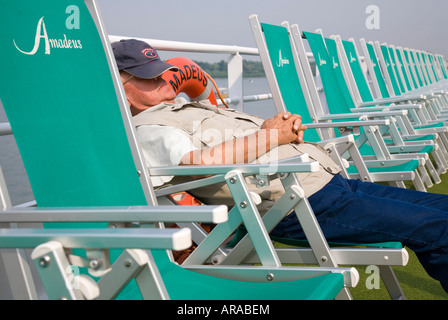
[[[276,130],[278,145],[282,145],[290,142],[302,143],[306,126],[302,124],[301,116],[290,112],[281,112],[266,120],[261,129]]]

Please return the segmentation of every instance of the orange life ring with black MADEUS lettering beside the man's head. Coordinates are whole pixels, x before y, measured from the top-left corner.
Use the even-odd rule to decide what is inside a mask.
[[[179,68],[178,71],[165,72],[162,76],[177,94],[183,92],[195,101],[208,99],[218,106],[209,76],[199,65],[184,57],[168,59],[166,62]]]

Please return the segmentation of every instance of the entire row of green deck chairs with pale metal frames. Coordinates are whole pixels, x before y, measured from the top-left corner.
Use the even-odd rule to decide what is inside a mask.
[[[70,25],[67,12],[82,24]],[[5,3],[0,17],[0,99],[37,204],[12,207],[0,174],[2,276],[14,298],[41,298],[42,287],[49,299],[351,299],[355,265],[378,266],[391,298],[405,298],[392,271],[408,261],[400,243],[326,241],[294,174],[318,170],[306,155],[275,165],[147,168],[94,0],[73,0],[70,10],[57,0],[17,0]],[[378,97],[379,108],[373,98],[354,98],[360,82],[347,81],[355,72],[351,51],[349,64],[342,61],[345,42],[257,16],[250,23],[276,108],[302,115],[308,140],[331,151],[344,175],[401,187],[410,180],[420,190],[440,181],[447,165],[443,59],[428,56],[432,83],[403,82],[422,85]],[[303,35],[330,110],[317,94]],[[332,113],[336,105],[348,109]],[[150,177],[166,175],[212,176],[155,191]],[[279,178],[285,194],[261,217],[248,183]],[[234,197],[230,210],[177,206],[169,197],[222,182]],[[292,210],[307,241],[271,239]],[[226,245],[240,226],[247,233]],[[192,254],[176,263],[172,251],[193,242]]]

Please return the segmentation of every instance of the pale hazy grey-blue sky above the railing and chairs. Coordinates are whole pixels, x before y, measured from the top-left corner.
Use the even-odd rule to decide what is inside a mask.
[[[448,58],[447,0],[97,1],[110,35],[256,47],[248,17],[257,14],[265,23],[286,20],[302,31],[322,29],[324,36],[365,38]]]

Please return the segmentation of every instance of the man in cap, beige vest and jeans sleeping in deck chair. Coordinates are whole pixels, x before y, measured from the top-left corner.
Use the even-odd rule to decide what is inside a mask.
[[[208,101],[176,99],[161,77],[176,67],[160,60],[149,44],[130,39],[112,48],[148,166],[267,163],[306,153],[320,170],[297,176],[328,241],[399,241],[448,291],[448,196],[345,179],[324,149],[305,141],[299,115],[280,113],[264,120]],[[151,179],[155,187],[180,181]],[[281,183],[256,191],[261,213],[284,193]],[[233,205],[225,184],[191,193],[207,204]],[[271,234],[305,239],[295,214]]]

